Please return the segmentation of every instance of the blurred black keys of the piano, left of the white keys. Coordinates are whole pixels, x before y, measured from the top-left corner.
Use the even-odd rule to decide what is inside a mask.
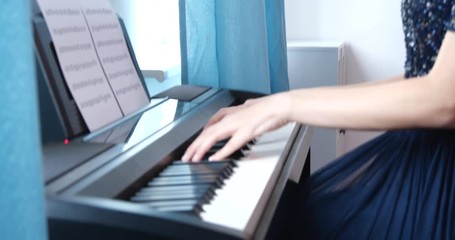
[[[202,205],[210,202],[215,189],[223,185],[235,167],[233,161],[186,164],[174,162],[148,182],[133,197],[160,211],[184,212],[198,215]]]

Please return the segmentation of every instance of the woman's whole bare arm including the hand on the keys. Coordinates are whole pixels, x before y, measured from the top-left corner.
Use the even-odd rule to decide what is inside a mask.
[[[349,129],[455,127],[455,33],[448,32],[425,77],[345,87],[300,89],[220,110],[187,149],[198,161],[219,140],[230,141],[211,159],[223,159],[252,138],[286,122]]]

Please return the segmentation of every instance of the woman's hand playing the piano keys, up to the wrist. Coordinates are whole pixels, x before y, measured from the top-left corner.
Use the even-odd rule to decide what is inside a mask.
[[[280,94],[276,94],[221,109],[209,119],[182,160],[200,161],[215,143],[230,138],[223,148],[209,157],[209,160],[225,159],[256,136],[285,125],[286,103],[283,99]]]

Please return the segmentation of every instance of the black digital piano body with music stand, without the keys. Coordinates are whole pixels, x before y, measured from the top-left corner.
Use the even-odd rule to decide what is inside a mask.
[[[151,98],[137,113],[89,132],[65,86],[42,16],[34,16],[33,25],[42,70],[38,86],[51,239],[264,239],[281,234],[284,225],[277,215],[286,216],[294,204],[285,196],[292,195],[287,188],[309,174],[311,128],[293,127],[245,229],[131,202],[134,192],[181,157],[210,116],[261,95],[208,88],[190,101]]]

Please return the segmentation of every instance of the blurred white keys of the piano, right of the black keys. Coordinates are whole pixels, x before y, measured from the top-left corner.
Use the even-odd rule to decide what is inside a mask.
[[[272,176],[294,127],[288,124],[257,138],[224,187],[203,206],[204,221],[246,231],[249,222],[260,217],[257,214],[265,206],[264,196],[271,191],[269,183],[274,181]]]

